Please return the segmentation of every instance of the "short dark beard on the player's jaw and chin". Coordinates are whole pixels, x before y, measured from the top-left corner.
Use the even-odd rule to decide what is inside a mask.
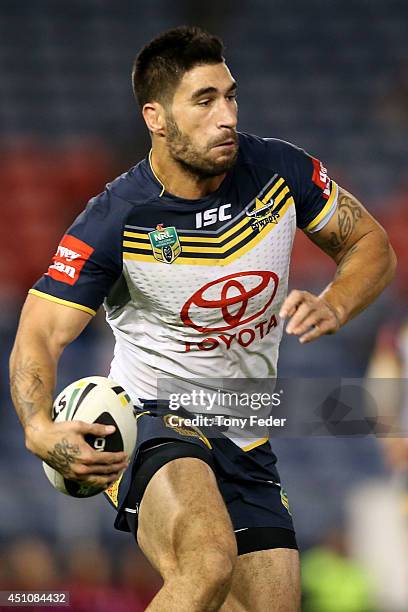
[[[238,157],[238,136],[231,132],[223,140],[234,139],[236,147],[228,156],[214,160],[210,158],[210,152],[220,141],[209,142],[205,147],[198,148],[191,138],[184,134],[173,116],[167,113],[167,147],[172,158],[190,175],[199,179],[213,178],[225,174],[235,164]],[[222,141],[221,141],[222,142]]]

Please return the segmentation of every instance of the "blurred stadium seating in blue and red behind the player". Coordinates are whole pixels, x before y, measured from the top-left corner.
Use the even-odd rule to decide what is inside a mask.
[[[408,353],[406,2],[1,0],[0,589],[64,586],[75,610],[142,610],[160,582],[113,530],[102,496],[76,501],[49,486],[24,449],[7,360],[26,292],[66,226],[148,150],[130,86],[136,52],[185,23],[223,37],[240,129],[322,159],[380,218],[399,256],[392,288],[337,336],[301,350],[285,339],[281,374],[364,377],[374,360],[372,372],[398,376]],[[332,270],[299,236],[292,286],[319,290]],[[111,349],[99,313],[66,351],[58,388],[105,374]],[[395,453],[373,436],[274,448],[304,555],[304,610],[408,610],[408,478]]]

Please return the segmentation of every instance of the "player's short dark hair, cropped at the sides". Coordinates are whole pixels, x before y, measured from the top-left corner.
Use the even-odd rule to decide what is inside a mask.
[[[143,47],[133,64],[133,91],[140,107],[170,102],[188,70],[219,64],[223,53],[222,41],[201,28],[180,26],[163,32]]]

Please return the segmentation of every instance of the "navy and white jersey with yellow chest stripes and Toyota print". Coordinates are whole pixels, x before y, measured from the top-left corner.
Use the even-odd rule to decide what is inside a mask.
[[[138,403],[160,377],[275,377],[296,226],[337,204],[321,162],[280,140],[239,135],[209,196],[165,190],[149,158],[92,198],[30,293],[95,314],[116,339],[111,377]]]

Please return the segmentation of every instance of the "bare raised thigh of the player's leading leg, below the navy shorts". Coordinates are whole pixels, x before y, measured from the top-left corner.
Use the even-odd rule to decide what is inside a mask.
[[[140,503],[137,541],[164,579],[191,573],[204,559],[235,563],[231,519],[204,461],[175,459],[154,474]]]

